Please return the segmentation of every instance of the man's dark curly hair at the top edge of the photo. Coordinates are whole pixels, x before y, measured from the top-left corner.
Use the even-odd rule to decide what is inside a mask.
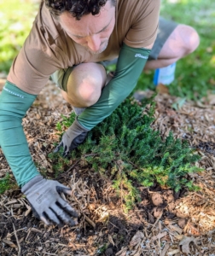
[[[49,12],[57,17],[63,12],[68,11],[77,20],[80,20],[83,15],[98,15],[100,9],[109,0],[44,0]],[[116,0],[110,0],[115,5]]]

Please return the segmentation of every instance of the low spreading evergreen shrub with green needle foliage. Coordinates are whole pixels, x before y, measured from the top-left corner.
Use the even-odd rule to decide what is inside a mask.
[[[153,99],[148,114],[142,114],[142,108],[136,102],[131,104],[131,100],[125,100],[90,131],[86,141],[72,153],[72,158],[82,158],[113,181],[113,188],[126,209],[139,201],[138,187],[158,183],[175,191],[184,187],[195,189],[188,173],[200,172],[193,165],[200,157],[186,141],[174,139],[172,133],[163,141],[159,131],[151,128]],[[72,116],[71,120],[73,113]]]

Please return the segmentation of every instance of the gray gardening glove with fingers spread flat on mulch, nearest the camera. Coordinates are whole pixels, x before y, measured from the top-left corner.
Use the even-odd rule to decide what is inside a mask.
[[[78,224],[72,218],[77,218],[78,213],[60,195],[61,192],[70,195],[71,189],[61,183],[38,175],[26,183],[21,192],[26,195],[35,217],[45,224]]]

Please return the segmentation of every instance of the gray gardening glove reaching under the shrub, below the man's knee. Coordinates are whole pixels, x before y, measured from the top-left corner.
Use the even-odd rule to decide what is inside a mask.
[[[71,125],[62,136],[61,143],[55,148],[54,153],[58,152],[63,147],[63,156],[66,157],[70,151],[77,148],[79,144],[84,142],[84,138],[87,136],[89,130],[85,129],[75,119],[73,125]]]

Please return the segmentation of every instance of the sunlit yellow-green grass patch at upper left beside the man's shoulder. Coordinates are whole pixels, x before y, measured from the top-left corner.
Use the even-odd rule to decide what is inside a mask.
[[[0,72],[8,73],[37,14],[38,3],[0,1]]]

